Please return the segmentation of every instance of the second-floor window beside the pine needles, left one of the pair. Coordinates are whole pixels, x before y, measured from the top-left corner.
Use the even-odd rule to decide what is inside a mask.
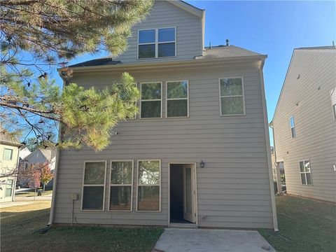
[[[162,83],[141,83],[140,118],[162,117]]]

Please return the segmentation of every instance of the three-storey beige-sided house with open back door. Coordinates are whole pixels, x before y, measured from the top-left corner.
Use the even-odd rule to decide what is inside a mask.
[[[267,56],[205,47],[204,22],[188,3],[155,1],[123,55],[69,66],[85,88],[129,72],[141,99],[104,151],[59,151],[50,224],[277,229]]]

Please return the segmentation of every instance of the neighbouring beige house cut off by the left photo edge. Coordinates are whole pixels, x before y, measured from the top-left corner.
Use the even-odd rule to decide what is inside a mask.
[[[21,144],[0,133],[0,202],[13,201]]]

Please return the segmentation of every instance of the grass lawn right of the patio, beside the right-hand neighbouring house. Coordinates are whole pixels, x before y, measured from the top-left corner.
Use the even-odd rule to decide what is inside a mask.
[[[259,230],[276,251],[336,251],[336,204],[276,196],[279,232]]]

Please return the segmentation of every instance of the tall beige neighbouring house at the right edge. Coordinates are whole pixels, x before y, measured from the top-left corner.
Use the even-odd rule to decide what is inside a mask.
[[[336,202],[336,48],[293,52],[276,111],[276,164],[287,193]]]

